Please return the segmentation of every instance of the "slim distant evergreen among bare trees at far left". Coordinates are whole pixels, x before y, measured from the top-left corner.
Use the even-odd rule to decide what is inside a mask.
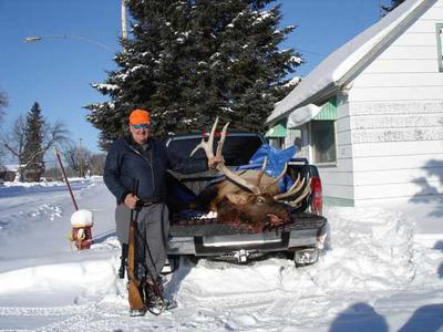
[[[40,178],[44,169],[43,127],[44,118],[41,115],[39,103],[35,102],[27,115],[24,146],[23,154],[20,157],[20,165],[27,164],[25,168],[37,173],[38,178]]]

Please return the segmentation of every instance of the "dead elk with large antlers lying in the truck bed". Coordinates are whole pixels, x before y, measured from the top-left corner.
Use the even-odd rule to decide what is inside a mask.
[[[203,148],[206,156],[214,157],[214,134],[218,124],[216,118],[207,141],[195,147],[190,155]],[[223,127],[217,145],[216,156],[223,158],[222,149],[226,138],[228,124]],[[225,163],[217,165],[217,170],[226,176],[223,180],[198,195],[202,206],[217,212],[224,224],[235,225],[261,232],[276,228],[290,220],[290,209],[297,207],[310,193],[310,180],[297,177],[295,184],[286,193],[280,193],[278,181],[285,176],[287,165],[278,177],[265,173],[266,159],[260,170],[233,172]]]

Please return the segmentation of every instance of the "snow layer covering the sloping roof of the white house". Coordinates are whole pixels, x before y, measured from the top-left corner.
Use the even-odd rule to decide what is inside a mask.
[[[330,92],[330,89],[337,89],[346,75],[365,64],[362,60],[369,53],[389,41],[389,37],[395,28],[406,20],[414,18],[413,13],[422,4],[430,4],[430,2],[434,3],[435,1],[406,0],[379,22],[336,50],[312,70],[284,100],[275,104],[274,112],[269,115],[266,123],[274,123],[278,118],[288,115],[296,107],[316,102],[316,100]]]

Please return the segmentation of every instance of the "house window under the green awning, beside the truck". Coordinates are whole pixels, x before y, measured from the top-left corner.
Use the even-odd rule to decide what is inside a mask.
[[[334,121],[312,121],[311,137],[315,163],[336,163]]]

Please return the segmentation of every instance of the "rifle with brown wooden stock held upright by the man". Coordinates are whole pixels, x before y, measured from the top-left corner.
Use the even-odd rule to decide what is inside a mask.
[[[135,181],[135,193],[137,194],[138,180]],[[135,194],[135,195],[136,195]],[[134,273],[135,266],[135,232],[136,232],[136,217],[138,211],[135,214],[131,209],[131,221],[130,221],[130,238],[128,238],[128,250],[127,250],[127,299],[130,301],[131,312],[144,312],[145,304],[143,302],[143,297],[140,291],[141,281]]]

